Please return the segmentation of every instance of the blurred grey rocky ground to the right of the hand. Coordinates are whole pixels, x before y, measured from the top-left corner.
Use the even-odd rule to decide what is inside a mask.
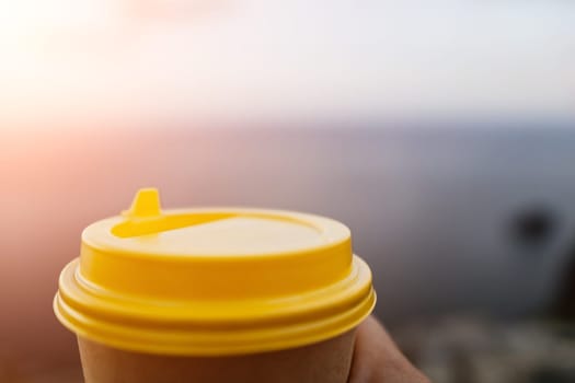
[[[575,382],[575,338],[568,336],[574,329],[453,316],[392,333],[435,383],[563,383]]]

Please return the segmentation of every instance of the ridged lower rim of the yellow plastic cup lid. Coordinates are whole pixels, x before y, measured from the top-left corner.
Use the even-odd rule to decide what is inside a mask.
[[[162,311],[162,302],[136,302],[151,305],[150,313],[126,310],[130,297],[105,297],[81,279],[78,259],[60,275],[54,299],[58,320],[78,336],[114,348],[179,356],[217,356],[272,351],[301,347],[344,334],[356,327],[373,310],[376,293],[371,271],[358,256],[353,256],[350,274],[333,286],[298,297],[283,297],[253,302],[163,302],[188,305],[177,317]],[[104,294],[104,295],[103,295]],[[131,302],[134,303],[134,302]],[[268,306],[258,316],[233,314],[228,317],[194,315],[194,304]],[[206,306],[204,306],[206,309]],[[221,309],[221,306],[220,306]],[[199,312],[210,312],[204,310]],[[185,314],[187,313],[187,315]]]

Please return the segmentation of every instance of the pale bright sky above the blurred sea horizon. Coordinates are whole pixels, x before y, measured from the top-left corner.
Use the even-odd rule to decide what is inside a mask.
[[[575,1],[0,0],[0,128],[575,117]]]

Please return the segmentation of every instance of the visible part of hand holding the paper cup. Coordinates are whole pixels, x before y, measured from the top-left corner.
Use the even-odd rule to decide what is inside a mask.
[[[383,326],[369,316],[357,329],[348,383],[429,383],[401,353]]]

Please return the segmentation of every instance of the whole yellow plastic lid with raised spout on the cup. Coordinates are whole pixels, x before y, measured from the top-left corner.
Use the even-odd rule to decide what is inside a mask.
[[[263,209],[161,210],[141,189],[122,216],[82,233],[54,300],[58,320],[111,347],[238,355],[343,334],[372,311],[369,267],[349,230]]]

